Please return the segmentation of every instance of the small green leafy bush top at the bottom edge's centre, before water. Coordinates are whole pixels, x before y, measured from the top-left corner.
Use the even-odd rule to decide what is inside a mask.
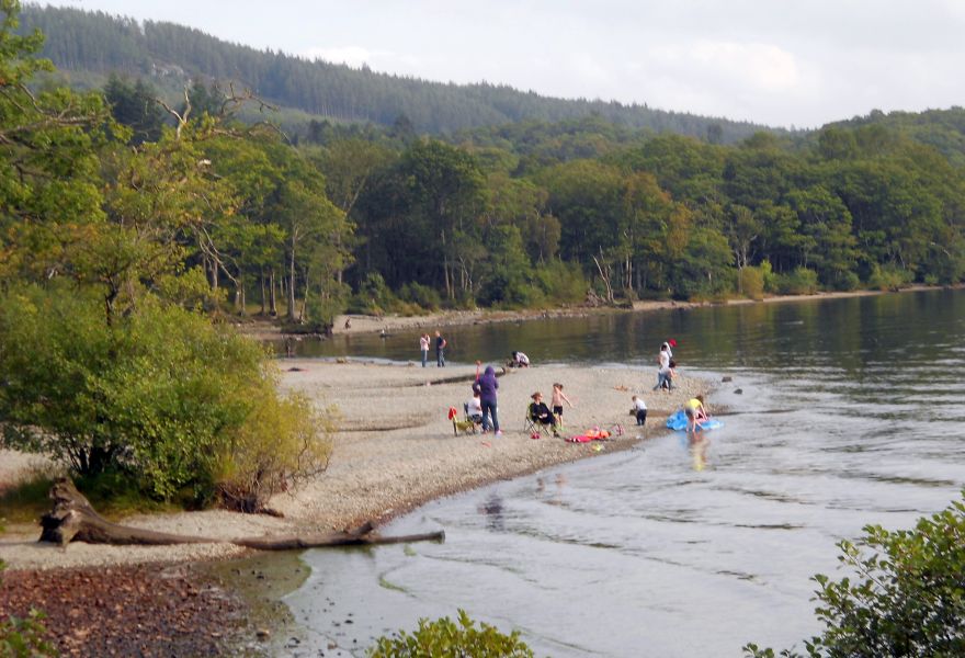
[[[430,622],[419,620],[419,629],[412,633],[399,631],[393,637],[379,637],[372,658],[531,658],[533,651],[520,639],[520,632],[500,633],[489,624],[475,622],[465,610],[459,610],[458,623],[442,617]]]

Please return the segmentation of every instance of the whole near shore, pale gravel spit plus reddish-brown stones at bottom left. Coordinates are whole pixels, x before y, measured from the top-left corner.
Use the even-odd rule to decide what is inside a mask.
[[[663,427],[663,419],[689,397],[713,387],[705,379],[680,373],[676,390],[655,393],[650,390],[655,368],[546,365],[511,370],[499,378],[499,417],[504,433],[497,438],[454,435],[447,419],[449,407],[461,409],[469,397],[475,366],[422,368],[286,359],[284,367],[283,388],[304,393],[319,409],[337,405],[342,416],[328,470],[295,492],[272,499],[271,507],[285,518],[208,510],[139,514],[121,522],[224,538],[309,533],[366,520],[381,524],[432,500],[666,436],[670,430]],[[565,410],[564,436],[614,423],[625,428],[624,434],[582,444],[531,439],[523,432],[530,395],[535,389],[548,393],[554,382],[565,383],[576,405]],[[391,394],[390,406],[382,404],[387,392]],[[643,395],[649,408],[647,428],[639,432],[628,415],[634,394]],[[10,451],[0,455],[0,486],[37,468],[35,457],[13,454],[22,458],[8,458]],[[23,467],[20,472],[15,468],[19,463]],[[174,637],[183,633],[182,621],[197,614],[203,599],[196,592],[211,593],[217,608],[204,611],[207,636],[198,638],[203,644],[184,645],[188,653],[216,646],[215,653],[243,649],[250,655],[272,655],[290,633],[297,636],[297,623],[280,602],[287,591],[279,589],[297,587],[292,583],[307,574],[295,554],[288,558],[222,543],[109,546],[77,542],[59,547],[39,544],[38,536],[34,524],[9,525],[0,533],[0,559],[10,567],[7,577],[0,575],[0,619],[23,614],[25,606],[49,608],[55,613],[48,625],[49,638],[65,655],[82,654],[87,647],[105,642],[128,646],[140,637],[134,629],[137,620],[150,615],[155,608],[166,612],[152,621],[151,638]],[[296,564],[290,564],[292,559]],[[251,568],[257,564],[251,560],[282,566]],[[102,578],[105,574],[106,579]],[[164,587],[170,581],[168,574],[177,575],[178,587]],[[270,582],[275,574],[284,576],[288,585]],[[152,587],[156,580],[162,585]],[[61,581],[82,587],[35,587],[37,582]],[[265,587],[273,589],[266,594]],[[145,598],[145,591],[155,590],[155,597]],[[104,601],[110,605],[102,604]],[[115,611],[117,605],[123,614]],[[82,626],[63,622],[80,614],[71,612],[78,609],[84,611]],[[133,622],[118,624],[118,620]]]

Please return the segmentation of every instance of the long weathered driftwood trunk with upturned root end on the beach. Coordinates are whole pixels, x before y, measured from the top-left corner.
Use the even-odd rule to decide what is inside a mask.
[[[84,496],[67,478],[58,479],[50,488],[54,508],[41,519],[41,542],[66,545],[70,542],[114,545],[212,544],[228,543],[259,551],[291,551],[296,548],[321,548],[326,546],[350,546],[361,544],[398,544],[406,542],[441,542],[443,531],[395,537],[384,537],[375,533],[371,523],[344,532],[329,532],[308,535],[280,535],[262,537],[238,537],[219,540],[156,532],[112,523],[91,506]]]

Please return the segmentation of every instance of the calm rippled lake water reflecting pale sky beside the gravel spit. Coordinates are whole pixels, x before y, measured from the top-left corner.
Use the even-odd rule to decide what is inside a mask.
[[[965,292],[615,314],[452,329],[453,361],[640,367],[679,341],[725,427],[697,446],[638,447],[436,501],[386,532],[444,544],[310,551],[287,597],[296,655],[363,655],[419,617],[465,609],[537,656],[740,656],[819,631],[816,572],[863,525],[909,527],[965,485]],[[303,345],[308,348],[309,345]],[[318,355],[418,358],[417,334]],[[307,350],[306,350],[307,351]],[[742,394],[737,394],[736,389]],[[330,649],[332,645],[337,648]]]

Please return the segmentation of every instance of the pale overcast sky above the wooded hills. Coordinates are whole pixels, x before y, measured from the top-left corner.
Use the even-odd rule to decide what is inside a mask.
[[[965,105],[965,0],[59,0],[309,58],[772,126]]]

